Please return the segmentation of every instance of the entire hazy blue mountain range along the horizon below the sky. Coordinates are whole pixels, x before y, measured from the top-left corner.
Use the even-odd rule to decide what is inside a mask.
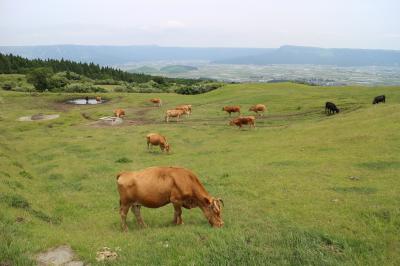
[[[336,66],[400,66],[398,50],[280,48],[192,48],[161,46],[0,46],[1,53],[29,59],[69,59],[100,65],[143,61],[208,61],[217,64],[313,64]]]

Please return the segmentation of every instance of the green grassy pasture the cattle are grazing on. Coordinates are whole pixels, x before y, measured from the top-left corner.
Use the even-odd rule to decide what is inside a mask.
[[[372,105],[380,94],[387,103]],[[400,264],[400,87],[236,84],[63,103],[78,96],[0,91],[0,265],[34,265],[36,253],[62,244],[91,265],[104,246],[118,247],[112,265]],[[342,112],[326,116],[328,100]],[[190,118],[163,122],[167,108],[184,103]],[[268,111],[254,130],[230,127],[221,111],[238,104],[249,114],[255,103]],[[121,126],[82,116],[115,108],[126,109]],[[37,113],[60,118],[16,121]],[[147,151],[150,132],[167,136],[170,155]],[[168,205],[142,208],[147,229],[129,213],[122,233],[116,174],[154,165],[198,174],[224,200],[225,226],[211,228],[199,209],[174,226]]]

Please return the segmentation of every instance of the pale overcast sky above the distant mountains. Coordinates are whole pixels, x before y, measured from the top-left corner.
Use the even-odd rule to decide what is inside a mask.
[[[0,0],[0,45],[400,50],[400,0]]]

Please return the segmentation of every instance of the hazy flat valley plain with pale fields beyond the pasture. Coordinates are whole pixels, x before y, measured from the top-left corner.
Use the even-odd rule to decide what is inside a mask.
[[[179,62],[176,62],[179,63]],[[234,82],[267,82],[270,80],[306,80],[319,85],[357,84],[364,86],[400,85],[400,67],[364,66],[338,67],[323,65],[234,65],[206,62],[182,62],[196,66],[196,70],[180,73],[152,71],[166,65],[165,62],[143,62],[121,65],[122,69],[135,72],[166,75],[180,78],[212,78]],[[147,71],[146,69],[150,70]]]

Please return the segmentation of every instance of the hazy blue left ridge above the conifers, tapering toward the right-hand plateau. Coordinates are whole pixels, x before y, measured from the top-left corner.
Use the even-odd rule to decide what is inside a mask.
[[[69,59],[101,65],[122,65],[143,61],[215,61],[237,56],[252,56],[268,49],[257,48],[191,48],[161,46],[0,46],[1,53],[12,53],[29,59]]]

